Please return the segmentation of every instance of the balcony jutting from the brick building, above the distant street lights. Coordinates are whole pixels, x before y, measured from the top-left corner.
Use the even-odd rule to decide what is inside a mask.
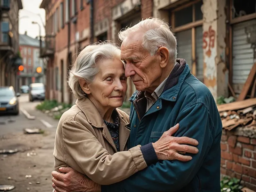
[[[46,35],[44,38],[40,39],[40,58],[51,57],[55,52],[55,36]]]

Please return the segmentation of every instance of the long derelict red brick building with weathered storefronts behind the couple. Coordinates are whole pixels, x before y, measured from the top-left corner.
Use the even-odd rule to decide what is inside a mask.
[[[58,101],[74,100],[67,68],[79,49],[99,40],[119,42],[120,29],[151,16],[171,25],[178,57],[215,99],[240,94],[256,62],[255,0],[43,0],[40,7],[46,10],[48,48],[41,56],[49,58],[48,98]],[[127,98],[135,91],[130,79],[128,85]]]

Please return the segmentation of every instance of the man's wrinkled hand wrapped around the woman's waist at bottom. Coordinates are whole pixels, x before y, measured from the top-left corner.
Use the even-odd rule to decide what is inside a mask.
[[[53,171],[53,188],[55,192],[100,192],[101,186],[71,167],[59,168],[61,173]]]

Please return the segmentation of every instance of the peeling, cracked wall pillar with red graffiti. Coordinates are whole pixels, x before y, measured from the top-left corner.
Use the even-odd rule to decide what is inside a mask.
[[[225,64],[225,0],[203,0],[204,83],[216,101],[227,96],[228,73]]]

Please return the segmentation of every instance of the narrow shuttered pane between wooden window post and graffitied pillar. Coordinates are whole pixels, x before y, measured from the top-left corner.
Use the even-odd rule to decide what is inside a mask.
[[[203,27],[195,28],[195,51],[197,58],[197,78],[203,82]]]

